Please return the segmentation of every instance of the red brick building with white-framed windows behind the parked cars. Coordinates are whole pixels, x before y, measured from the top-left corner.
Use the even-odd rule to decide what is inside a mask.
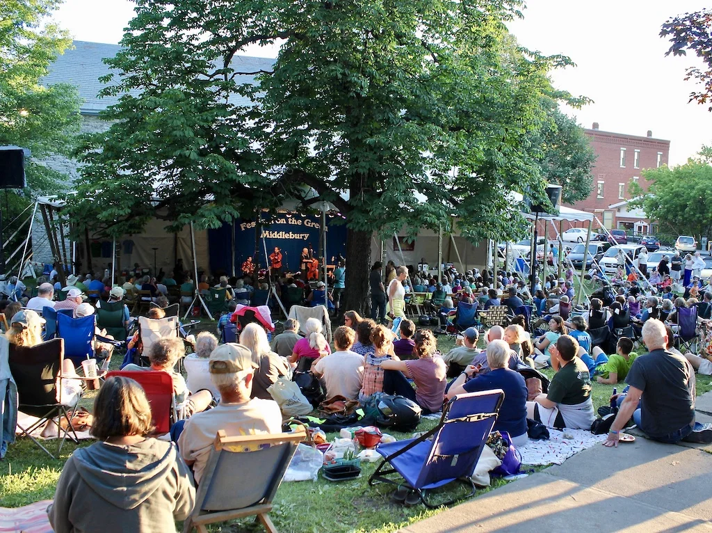
[[[647,189],[642,170],[667,165],[670,141],[601,131],[598,123],[585,130],[591,146],[598,156],[592,169],[593,188],[586,200],[576,202],[575,209],[594,212],[608,229],[626,229],[629,232],[649,233],[650,221],[639,209],[627,209],[631,200],[629,184],[632,181]],[[599,224],[594,221],[594,227]]]

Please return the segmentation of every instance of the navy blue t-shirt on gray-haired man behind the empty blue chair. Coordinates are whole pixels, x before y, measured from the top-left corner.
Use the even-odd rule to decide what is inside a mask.
[[[527,384],[523,376],[508,368],[497,368],[464,385],[468,393],[494,388],[504,390],[504,401],[493,430],[506,431],[512,438],[527,433]]]

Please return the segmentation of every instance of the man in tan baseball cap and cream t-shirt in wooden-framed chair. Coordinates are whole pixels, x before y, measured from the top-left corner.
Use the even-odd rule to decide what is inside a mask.
[[[241,344],[222,344],[210,354],[210,378],[220,392],[220,402],[189,418],[177,439],[180,455],[193,467],[196,483],[200,482],[218,430],[228,435],[281,433],[282,413],[276,401],[250,399],[256,368],[251,352]],[[173,438],[176,433],[171,430]]]

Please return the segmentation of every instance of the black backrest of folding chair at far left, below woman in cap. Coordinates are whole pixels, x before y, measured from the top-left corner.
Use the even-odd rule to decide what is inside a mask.
[[[10,345],[10,371],[17,385],[23,413],[41,417],[48,409],[40,406],[55,405],[61,401],[57,378],[62,371],[63,360],[64,341],[61,338],[31,348]]]

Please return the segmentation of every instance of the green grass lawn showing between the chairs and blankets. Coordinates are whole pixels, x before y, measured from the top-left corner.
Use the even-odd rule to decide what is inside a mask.
[[[214,323],[213,323],[214,324]],[[206,324],[205,328],[214,328]],[[447,351],[454,346],[453,338],[438,339],[441,351]],[[119,358],[112,361],[112,366],[118,365]],[[612,385],[593,385],[593,401],[596,407],[607,405]],[[702,394],[712,390],[711,376],[698,376],[697,393]],[[88,392],[83,399],[83,405],[91,408],[93,391]],[[429,430],[436,424],[434,420],[423,420],[417,428],[419,431]],[[396,438],[409,438],[406,433],[392,433]],[[337,437],[329,433],[329,440]],[[79,446],[88,446],[93,441],[84,441]],[[53,443],[50,443],[53,444]],[[0,462],[0,502],[3,507],[19,507],[39,500],[49,500],[53,497],[56,482],[64,462],[77,445],[66,443],[61,457],[51,460],[28,439],[19,439],[11,445],[6,459]],[[271,517],[276,527],[284,532],[394,532],[412,522],[433,516],[445,509],[426,509],[403,507],[390,502],[392,487],[377,485],[369,487],[368,477],[375,470],[377,463],[362,464],[362,475],[359,479],[333,483],[319,477],[316,482],[283,483],[277,493],[275,508]],[[535,470],[540,470],[536,468]],[[244,480],[236,480],[236,486]],[[493,480],[492,486],[478,491],[479,494],[506,484],[503,480]],[[231,522],[224,527],[214,526],[211,531],[247,532],[259,531],[252,520]]]

